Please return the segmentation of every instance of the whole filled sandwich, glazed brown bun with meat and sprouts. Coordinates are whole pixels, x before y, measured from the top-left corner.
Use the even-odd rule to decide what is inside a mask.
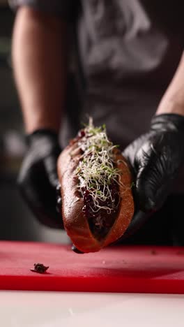
[[[121,238],[134,214],[132,177],[105,126],[89,125],[58,159],[63,224],[81,252],[97,252]]]

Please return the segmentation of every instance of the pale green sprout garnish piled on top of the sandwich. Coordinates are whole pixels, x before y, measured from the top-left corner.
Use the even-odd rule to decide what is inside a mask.
[[[105,125],[95,127],[91,118],[78,146],[83,152],[75,170],[79,178],[79,191],[82,196],[84,189],[89,191],[93,203],[90,208],[93,212],[103,209],[110,214],[115,203],[110,185],[116,183],[123,186],[120,180],[121,170],[116,168],[114,162],[114,148],[117,146],[107,138]],[[109,199],[112,205],[107,206],[105,204]]]

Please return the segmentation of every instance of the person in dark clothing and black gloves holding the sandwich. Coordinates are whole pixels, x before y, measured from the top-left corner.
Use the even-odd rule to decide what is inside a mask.
[[[61,226],[56,160],[91,116],[95,125],[106,124],[132,169],[136,211],[123,242],[183,245],[183,1],[10,0],[10,6],[27,142],[18,182],[36,217]]]

